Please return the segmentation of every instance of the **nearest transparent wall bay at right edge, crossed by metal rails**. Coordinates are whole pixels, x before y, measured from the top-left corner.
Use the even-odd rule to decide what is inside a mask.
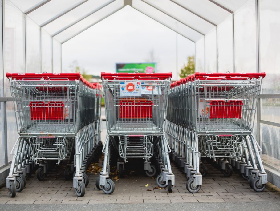
[[[280,1],[259,1],[260,71],[266,72],[262,94],[280,94]],[[261,119],[280,123],[280,99],[261,100]],[[263,160],[280,169],[280,127],[261,126]]]

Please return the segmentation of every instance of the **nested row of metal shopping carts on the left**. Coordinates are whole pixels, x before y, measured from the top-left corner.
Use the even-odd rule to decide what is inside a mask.
[[[80,73],[6,74],[14,99],[19,137],[6,187],[10,197],[22,191],[26,176],[39,164],[43,180],[57,163],[68,160],[65,179],[73,179],[77,196],[85,194],[85,173],[100,148],[100,89]],[[94,103],[91,103],[94,102]]]

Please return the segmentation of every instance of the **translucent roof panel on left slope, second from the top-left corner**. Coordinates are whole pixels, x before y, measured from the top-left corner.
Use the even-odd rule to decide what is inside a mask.
[[[81,2],[81,0],[51,0],[32,11],[28,16],[41,26],[43,23],[75,6],[79,2]]]

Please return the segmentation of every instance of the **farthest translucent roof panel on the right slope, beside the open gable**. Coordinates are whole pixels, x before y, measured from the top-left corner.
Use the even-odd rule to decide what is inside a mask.
[[[198,33],[197,31],[182,24],[181,22],[178,22],[174,18],[171,18],[170,16],[164,14],[163,12],[160,12],[159,10],[153,8],[152,6],[141,0],[132,0],[132,7],[193,42],[196,42],[201,37],[203,37],[203,34]]]

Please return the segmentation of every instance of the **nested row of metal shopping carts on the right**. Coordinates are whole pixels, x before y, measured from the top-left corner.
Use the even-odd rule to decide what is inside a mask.
[[[186,188],[199,191],[212,162],[225,177],[233,170],[257,192],[267,174],[260,146],[252,134],[257,98],[265,73],[198,73],[171,84],[167,139],[171,158],[188,178]]]

